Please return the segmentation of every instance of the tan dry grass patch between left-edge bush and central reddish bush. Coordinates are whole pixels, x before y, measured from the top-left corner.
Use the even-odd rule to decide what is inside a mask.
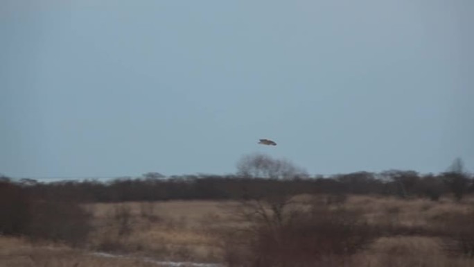
[[[219,235],[213,230],[231,223],[223,205],[200,200],[89,205],[96,226],[90,248],[163,260],[220,261]]]

